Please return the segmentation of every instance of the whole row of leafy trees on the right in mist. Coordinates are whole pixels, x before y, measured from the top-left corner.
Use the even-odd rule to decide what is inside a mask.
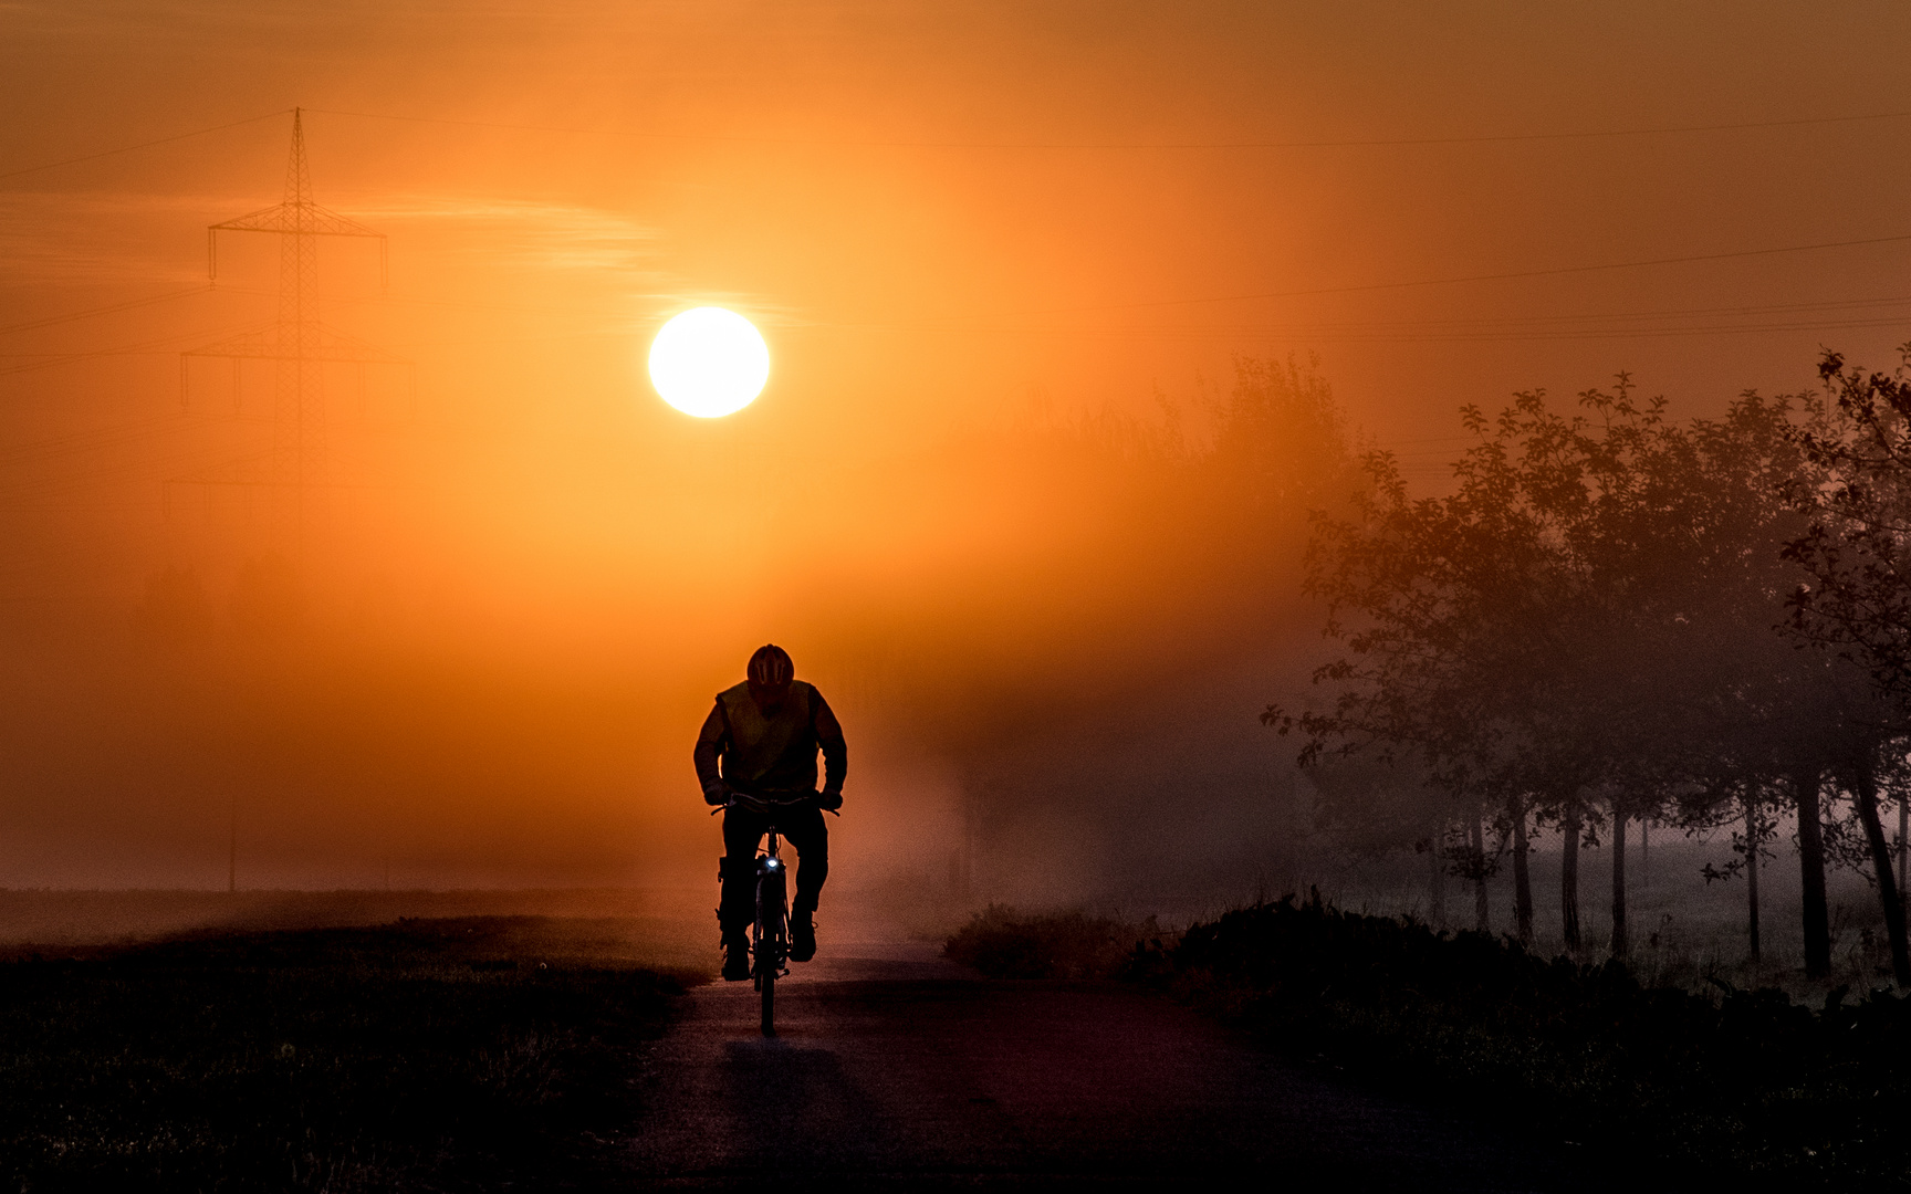
[[[1756,860],[1785,821],[1806,972],[1831,972],[1829,865],[1871,879],[1911,988],[1911,344],[1892,373],[1838,353],[1821,386],[1745,392],[1674,420],[1621,374],[1559,409],[1544,392],[1466,407],[1445,497],[1387,451],[1313,516],[1305,590],[1338,651],[1315,699],[1263,720],[1303,739],[1326,820],[1380,825],[1470,879],[1561,835],[1565,946],[1584,948],[1584,844],[1611,844],[1611,949],[1626,955],[1626,829],[1731,827],[1760,953]],[[1898,802],[1892,841],[1880,806]],[[1894,873],[1894,850],[1896,867]]]

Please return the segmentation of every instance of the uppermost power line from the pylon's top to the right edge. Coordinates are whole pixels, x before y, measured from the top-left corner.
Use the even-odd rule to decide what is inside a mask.
[[[1789,120],[1731,120],[1720,124],[1663,124],[1645,128],[1598,128],[1582,132],[1525,132],[1479,134],[1447,138],[1345,138],[1309,141],[881,141],[856,138],[764,138],[713,132],[659,132],[642,128],[583,128],[566,124],[514,124],[503,120],[462,120],[453,117],[401,117],[394,113],[361,113],[329,107],[308,107],[308,113],[327,117],[357,117],[363,120],[399,120],[407,124],[453,124],[462,128],[497,128],[508,132],[562,132],[592,138],[642,138],[655,141],[730,141],[740,145],[818,145],[837,149],[1385,149],[1406,145],[1492,145],[1514,141],[1590,141],[1601,138],[1651,138],[1705,132],[1750,132],[1762,128],[1806,128],[1821,124],[1859,124],[1873,120],[1903,120],[1903,113],[1865,113],[1857,117],[1796,117]],[[4,178],[4,176],[0,176]]]

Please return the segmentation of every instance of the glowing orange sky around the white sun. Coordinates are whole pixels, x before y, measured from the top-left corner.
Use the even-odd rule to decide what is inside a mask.
[[[854,609],[912,644],[986,629],[1003,676],[1076,659],[1057,627],[1127,594],[1009,600],[1001,577],[1116,560],[1093,546],[1114,506],[990,453],[1078,411],[1152,420],[1156,394],[1198,436],[1236,355],[1319,353],[1428,483],[1466,401],[1630,369],[1699,413],[1806,384],[1821,344],[1884,363],[1911,241],[1385,285],[1911,235],[1907,117],[1424,143],[1898,113],[1907,25],[1892,4],[10,6],[0,629],[29,661],[13,707],[75,713],[67,747],[10,739],[0,885],[224,879],[225,772],[285,810],[256,814],[258,883],[390,856],[420,883],[642,881],[646,842],[707,846],[665,795],[678,739],[762,638],[860,674],[902,640],[850,634]],[[415,399],[405,371],[327,380],[331,455],[363,485],[308,560],[327,630],[300,663],[206,648],[155,672],[115,653],[153,577],[193,567],[224,609],[271,546],[229,493],[166,481],[269,441],[266,367],[235,394],[195,365],[182,409],[176,353],[273,315],[264,237],[222,241],[197,288],[204,227],[279,199],[290,122],[19,170],[292,105],[319,203],[390,235],[388,292],[376,252],[325,246],[325,317],[413,361]],[[1210,302],[1242,294],[1288,298]],[[650,332],[703,302],[772,350],[720,426],[642,378]],[[1292,632],[1242,625],[1240,659]],[[145,695],[140,667],[162,672]],[[243,695],[266,674],[298,693],[283,716]],[[1252,753],[1236,680],[1202,692],[1240,690],[1229,749]],[[961,760],[934,737],[871,732],[871,789],[946,802]]]

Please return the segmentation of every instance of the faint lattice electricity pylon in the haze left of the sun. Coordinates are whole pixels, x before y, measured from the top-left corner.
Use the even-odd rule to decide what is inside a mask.
[[[388,281],[386,237],[357,220],[340,216],[311,201],[311,170],[306,164],[304,115],[292,109],[292,155],[285,166],[285,199],[237,220],[206,227],[206,277],[218,279],[220,233],[273,233],[279,239],[279,321],[262,330],[241,332],[218,344],[180,353],[182,401],[185,367],[191,357],[231,357],[277,361],[271,413],[271,455],[264,476],[233,466],[189,478],[201,485],[266,485],[283,501],[281,510],[304,531],[306,491],[327,483],[325,453],[325,361],[361,365],[405,365],[384,350],[340,334],[319,323],[319,237],[363,237],[378,241],[378,273]]]

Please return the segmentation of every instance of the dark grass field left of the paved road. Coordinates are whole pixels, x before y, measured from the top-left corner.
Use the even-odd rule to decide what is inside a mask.
[[[678,990],[539,917],[27,953],[0,963],[0,1183],[589,1184]]]

